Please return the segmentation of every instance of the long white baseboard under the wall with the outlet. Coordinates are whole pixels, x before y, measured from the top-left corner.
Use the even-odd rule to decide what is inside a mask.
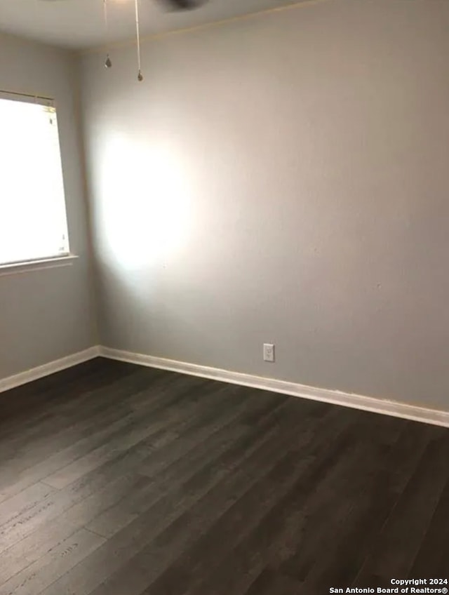
[[[416,405],[409,405],[407,403],[399,403],[398,401],[375,399],[370,396],[361,396],[336,390],[307,387],[295,382],[286,382],[284,380],[275,380],[274,378],[264,378],[239,372],[230,372],[229,370],[220,370],[220,368],[197,366],[194,363],[163,359],[144,354],[135,354],[121,351],[120,349],[110,349],[109,347],[100,347],[100,356],[108,359],[126,361],[128,363],[137,363],[140,364],[140,366],[148,366],[149,368],[171,370],[173,372],[201,376],[212,380],[230,382],[236,385],[289,394],[291,396],[300,397],[301,399],[323,401],[325,403],[362,409],[373,413],[403,417],[406,420],[449,427],[449,411],[428,409]]]

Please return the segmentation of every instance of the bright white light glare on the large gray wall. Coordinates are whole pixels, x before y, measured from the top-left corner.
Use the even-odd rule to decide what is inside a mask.
[[[173,147],[116,136],[100,154],[102,227],[109,254],[123,267],[169,259],[190,227],[189,180]]]

